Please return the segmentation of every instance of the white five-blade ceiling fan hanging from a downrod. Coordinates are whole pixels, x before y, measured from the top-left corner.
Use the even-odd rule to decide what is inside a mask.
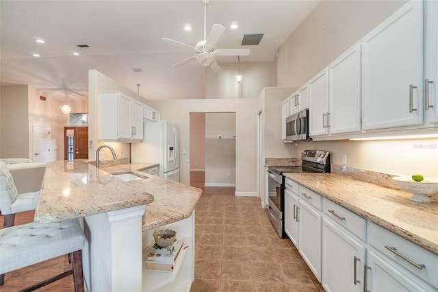
[[[210,34],[208,37],[206,36],[207,5],[209,0],[201,0],[201,2],[204,5],[204,39],[199,41],[195,47],[184,44],[183,42],[178,42],[177,40],[171,40],[170,38],[162,38],[162,42],[196,51],[196,55],[178,62],[173,65],[174,67],[179,67],[192,60],[197,60],[202,66],[210,66],[211,70],[218,72],[220,71],[220,66],[218,62],[216,62],[216,56],[248,56],[250,49],[215,49],[214,45],[216,45],[216,42],[218,42],[220,36],[224,33],[225,27],[219,24],[214,24],[211,28]]]

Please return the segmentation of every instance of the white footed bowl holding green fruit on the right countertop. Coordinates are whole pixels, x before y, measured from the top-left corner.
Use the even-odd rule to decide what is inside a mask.
[[[409,198],[413,202],[430,203],[428,195],[438,193],[438,178],[425,177],[421,182],[415,182],[409,176],[396,176],[392,179],[403,191],[413,194]]]

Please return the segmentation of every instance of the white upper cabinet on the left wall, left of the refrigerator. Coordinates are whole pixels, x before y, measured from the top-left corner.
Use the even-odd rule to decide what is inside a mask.
[[[99,140],[143,139],[143,104],[118,91],[99,92]]]

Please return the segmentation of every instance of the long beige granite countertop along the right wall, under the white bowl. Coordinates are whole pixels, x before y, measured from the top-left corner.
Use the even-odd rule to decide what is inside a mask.
[[[334,173],[283,173],[357,215],[438,254],[438,202],[409,200],[412,194]]]

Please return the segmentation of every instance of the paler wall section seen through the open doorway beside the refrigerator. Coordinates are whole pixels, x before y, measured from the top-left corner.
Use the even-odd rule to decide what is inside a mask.
[[[205,114],[205,186],[235,186],[233,136],[234,112]]]

